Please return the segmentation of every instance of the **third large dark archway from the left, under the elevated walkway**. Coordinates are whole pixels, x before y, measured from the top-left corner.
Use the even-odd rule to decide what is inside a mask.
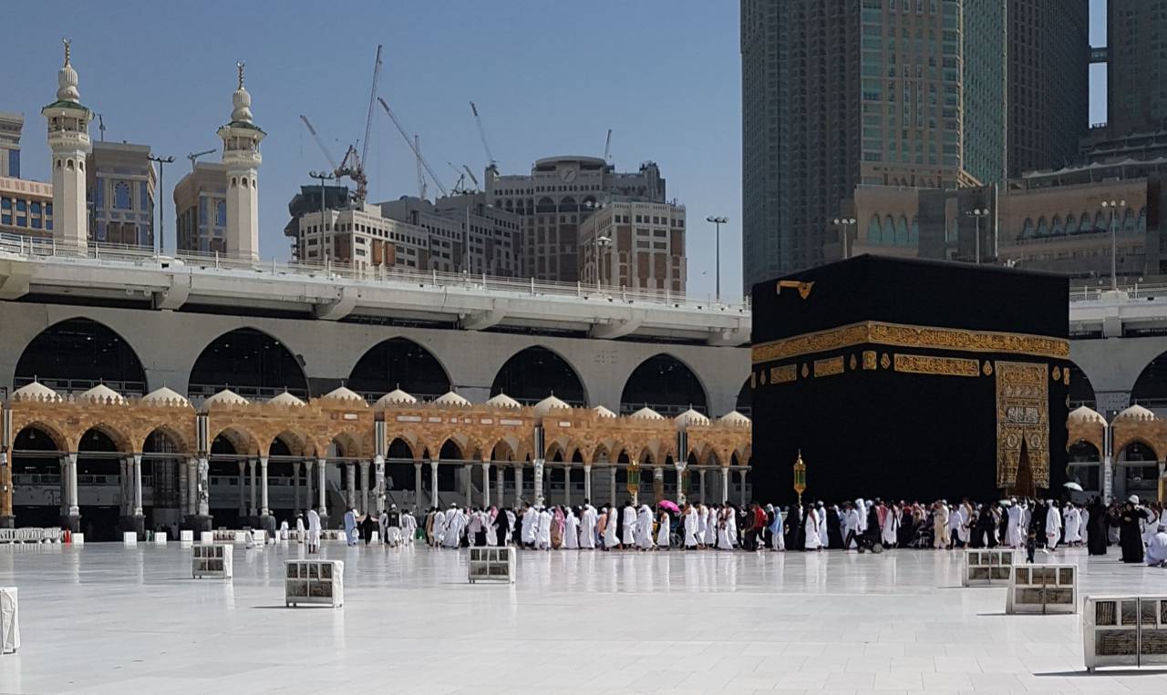
[[[347,386],[370,400],[394,388],[433,400],[449,391],[450,381],[432,352],[408,338],[390,338],[361,356]]]

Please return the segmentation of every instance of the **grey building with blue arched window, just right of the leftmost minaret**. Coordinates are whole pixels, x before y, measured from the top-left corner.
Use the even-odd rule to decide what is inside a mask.
[[[95,142],[86,157],[89,238],[99,244],[154,245],[154,164],[149,147]]]

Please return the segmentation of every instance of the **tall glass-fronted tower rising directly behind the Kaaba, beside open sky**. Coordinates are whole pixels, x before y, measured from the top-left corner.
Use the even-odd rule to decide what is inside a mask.
[[[747,287],[822,264],[858,187],[1004,180],[1006,31],[1005,0],[742,0]]]

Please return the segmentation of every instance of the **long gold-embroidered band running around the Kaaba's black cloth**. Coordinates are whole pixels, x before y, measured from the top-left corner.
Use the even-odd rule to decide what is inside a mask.
[[[789,359],[816,352],[841,350],[866,343],[894,348],[931,348],[963,352],[1030,354],[1051,359],[1069,359],[1070,344],[1062,338],[972,331],[956,328],[932,328],[864,321],[813,334],[754,345],[754,364]]]

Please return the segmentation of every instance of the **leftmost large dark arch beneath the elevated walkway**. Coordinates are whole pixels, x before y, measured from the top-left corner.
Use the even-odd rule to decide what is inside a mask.
[[[104,382],[121,394],[146,393],[146,372],[133,346],[104,323],[82,316],[54,323],[25,346],[14,385],[34,379],[58,392]]]

